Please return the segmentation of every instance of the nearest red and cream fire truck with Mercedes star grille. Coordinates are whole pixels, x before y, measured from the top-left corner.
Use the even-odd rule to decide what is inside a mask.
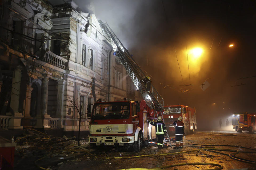
[[[125,99],[125,98],[124,98]],[[122,146],[140,151],[143,142],[156,138],[155,126],[147,123],[154,111],[145,100],[96,102],[89,123],[89,142],[95,146]],[[157,117],[155,117],[157,118]]]

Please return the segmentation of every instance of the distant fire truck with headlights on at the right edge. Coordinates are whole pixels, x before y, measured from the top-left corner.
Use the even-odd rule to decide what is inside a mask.
[[[233,129],[237,132],[249,131],[251,133],[256,132],[255,113],[233,113],[232,125]]]

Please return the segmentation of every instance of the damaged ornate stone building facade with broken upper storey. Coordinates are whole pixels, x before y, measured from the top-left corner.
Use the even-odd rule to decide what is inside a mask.
[[[0,34],[0,130],[76,131],[76,108],[88,130],[97,99],[140,99],[96,16],[73,1],[2,1]]]

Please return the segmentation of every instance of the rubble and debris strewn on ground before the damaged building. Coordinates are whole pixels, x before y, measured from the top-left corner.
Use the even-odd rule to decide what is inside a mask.
[[[23,136],[15,139],[14,169],[36,169],[36,166],[51,169],[64,161],[79,161],[84,156],[90,159],[88,138],[80,139],[77,146],[77,138],[63,136],[55,137],[43,134],[33,129],[26,129]],[[36,164],[35,164],[36,162]],[[41,168],[41,169],[43,169]]]

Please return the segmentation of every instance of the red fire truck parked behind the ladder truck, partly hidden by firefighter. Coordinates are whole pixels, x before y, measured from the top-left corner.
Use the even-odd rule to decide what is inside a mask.
[[[174,121],[178,121],[178,117],[183,118],[183,123],[185,125],[185,134],[194,132],[197,129],[197,119],[195,115],[195,107],[189,107],[184,105],[172,105],[164,106],[165,112],[163,118],[165,120],[165,125],[168,128],[167,131],[169,135],[175,133]]]

